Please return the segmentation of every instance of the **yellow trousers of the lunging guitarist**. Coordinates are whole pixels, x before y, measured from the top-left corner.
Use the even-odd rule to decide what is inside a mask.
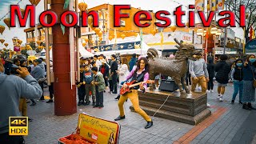
[[[121,97],[119,98],[119,101],[118,101],[120,116],[125,115],[125,112],[123,110],[123,104],[124,104],[124,102],[126,102],[127,98],[129,98],[130,102],[132,102],[136,113],[140,114],[142,116],[142,118],[144,118],[146,120],[146,122],[151,122],[151,118],[138,105],[138,90],[131,90],[131,92],[121,95]]]

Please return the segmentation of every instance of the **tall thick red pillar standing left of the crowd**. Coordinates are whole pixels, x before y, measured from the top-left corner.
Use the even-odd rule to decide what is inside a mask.
[[[51,10],[58,15],[58,23],[52,27],[53,60],[54,60],[54,114],[70,115],[77,112],[76,87],[70,82],[70,29],[66,27],[63,35],[60,26],[60,15],[64,0],[51,1]]]

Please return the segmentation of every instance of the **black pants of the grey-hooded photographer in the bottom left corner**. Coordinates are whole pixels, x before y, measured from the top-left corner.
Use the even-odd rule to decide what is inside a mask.
[[[0,134],[0,143],[4,144],[22,144],[22,136],[9,135],[9,133]]]

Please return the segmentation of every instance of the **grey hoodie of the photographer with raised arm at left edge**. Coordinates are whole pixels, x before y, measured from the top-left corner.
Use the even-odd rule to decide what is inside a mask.
[[[21,97],[36,99],[41,96],[42,89],[31,75],[22,79],[0,72],[0,134],[9,131],[10,116],[21,116],[18,110]]]

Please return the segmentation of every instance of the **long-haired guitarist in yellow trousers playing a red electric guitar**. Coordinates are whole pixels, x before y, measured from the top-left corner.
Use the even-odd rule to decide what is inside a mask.
[[[146,82],[150,78],[150,74],[148,70],[149,70],[149,63],[147,59],[143,57],[139,58],[137,67],[130,71],[130,74],[128,74],[125,82],[127,82],[130,78],[131,78],[131,81],[135,80],[136,82]],[[127,87],[127,85],[123,84],[123,87]],[[127,98],[130,98],[130,102],[132,102],[134,106],[134,110],[138,114],[140,114],[142,118],[144,118],[147,122],[145,129],[148,129],[151,126],[153,126],[152,119],[138,105],[138,89],[142,90],[142,92],[145,92],[146,87],[147,87],[146,83],[141,84],[140,86],[134,86],[133,90],[130,90],[130,92],[127,92],[126,94],[121,95],[118,101],[120,115],[118,116],[118,118],[114,119],[115,121],[119,121],[121,119],[126,118],[123,110],[123,104]]]

